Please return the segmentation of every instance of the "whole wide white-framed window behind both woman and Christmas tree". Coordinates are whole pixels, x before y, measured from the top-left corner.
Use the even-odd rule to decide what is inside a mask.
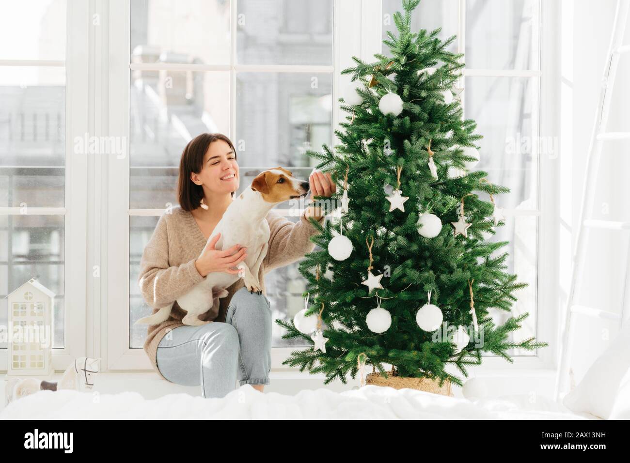
[[[388,53],[381,40],[394,30],[391,14],[399,9],[399,0],[110,2],[103,12],[109,26],[104,117],[107,134],[129,146],[129,156],[110,156],[107,168],[110,369],[150,368],[142,350],[146,327],[133,326],[150,312],[137,288],[138,266],[157,218],[176,205],[178,163],[188,140],[201,132],[231,137],[241,190],[277,165],[307,178],[314,164],[306,149],[338,142],[333,130],[345,117],[336,103],[338,88],[348,79],[340,71],[353,66],[352,55],[371,62],[374,54]],[[452,50],[466,52],[466,117],[484,135],[478,168],[492,183],[512,189],[496,198],[508,225],[493,240],[510,241],[507,270],[530,283],[513,307],[530,313],[518,336],[548,340],[537,329],[544,321],[541,297],[553,299],[538,258],[546,239],[540,219],[547,214],[539,203],[536,144],[541,21],[539,0],[423,0],[413,27],[442,26],[443,38],[459,35]],[[274,317],[292,317],[304,307],[306,285],[297,263],[274,270],[265,282]],[[505,317],[495,315],[498,322]],[[296,347],[282,334],[274,324],[274,369],[284,368],[282,360]]]

